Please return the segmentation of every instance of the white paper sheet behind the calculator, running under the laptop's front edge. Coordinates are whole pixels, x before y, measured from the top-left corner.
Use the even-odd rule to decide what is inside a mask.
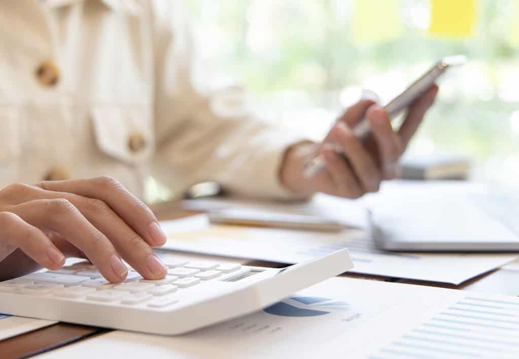
[[[311,208],[317,211],[318,207]],[[358,208],[348,216],[354,218],[350,224],[360,224],[362,216]],[[331,212],[339,217],[340,211]],[[360,212],[365,216],[363,210]],[[377,250],[365,231],[330,234],[215,226],[209,224],[204,214],[162,222],[161,225],[170,237],[164,247],[167,249],[293,264],[348,248],[355,265],[350,272],[456,285],[517,257],[514,254],[387,253]]]

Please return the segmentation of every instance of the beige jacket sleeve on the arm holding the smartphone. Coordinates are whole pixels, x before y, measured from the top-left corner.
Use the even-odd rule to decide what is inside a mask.
[[[240,195],[294,198],[279,180],[286,148],[303,140],[253,116],[239,85],[210,88],[180,2],[153,3],[156,160],[175,193],[215,181]]]

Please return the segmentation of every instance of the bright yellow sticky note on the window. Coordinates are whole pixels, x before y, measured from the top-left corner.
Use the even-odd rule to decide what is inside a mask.
[[[470,36],[475,20],[476,0],[431,0],[431,35]]]

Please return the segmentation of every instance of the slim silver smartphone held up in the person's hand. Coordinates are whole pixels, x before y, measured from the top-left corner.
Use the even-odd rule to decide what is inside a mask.
[[[413,82],[404,92],[395,97],[389,104],[384,106],[388,116],[394,119],[401,111],[411,105],[418,97],[429,90],[436,80],[452,66],[459,66],[467,62],[465,55],[446,56],[436,63],[429,71]],[[370,124],[364,119],[353,128],[353,132],[359,138],[366,138],[371,133]],[[311,177],[324,168],[324,159],[321,155],[310,161],[305,170],[305,177]]]

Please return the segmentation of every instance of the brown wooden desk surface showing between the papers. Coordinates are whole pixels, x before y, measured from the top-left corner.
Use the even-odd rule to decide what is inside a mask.
[[[177,219],[192,216],[199,212],[183,209],[180,203],[171,202],[164,203],[152,207],[159,220]],[[190,256],[190,254],[182,253],[182,255]],[[214,259],[214,256],[193,255],[197,258],[207,257]],[[283,267],[285,265],[279,263],[269,263],[260,261],[246,261],[240,259],[225,258],[225,261],[239,262],[241,264],[264,266],[264,267]],[[444,283],[417,282],[401,280],[399,278],[389,278],[381,276],[366,276],[357,274],[345,274],[344,276],[352,278],[361,278],[364,280],[381,280],[390,282],[401,282],[409,284],[441,286],[443,288],[461,289],[468,291],[478,291],[487,293],[499,293],[505,295],[519,296],[519,264],[511,264],[502,268],[490,271],[459,286],[446,285]],[[109,329],[95,328],[83,325],[72,325],[58,323],[52,326],[38,329],[37,331],[26,333],[24,335],[0,341],[1,357],[28,357],[38,353],[46,352],[58,347],[85,340],[92,336],[103,335],[110,332]]]

